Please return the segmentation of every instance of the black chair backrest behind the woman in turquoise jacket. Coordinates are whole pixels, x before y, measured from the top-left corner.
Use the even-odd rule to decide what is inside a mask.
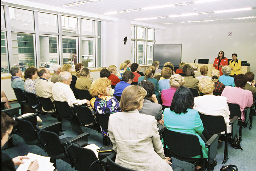
[[[164,144],[166,144],[173,157],[192,158],[201,155],[202,146],[196,135],[179,133],[164,128]]]

